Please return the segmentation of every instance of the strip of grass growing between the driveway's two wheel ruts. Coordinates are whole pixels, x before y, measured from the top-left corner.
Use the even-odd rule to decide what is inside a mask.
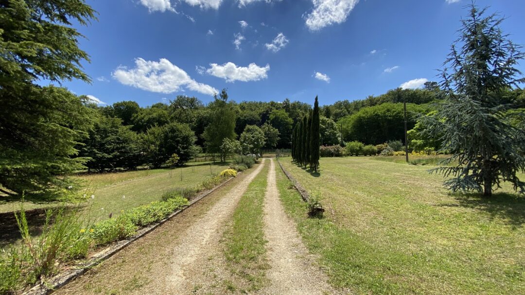
[[[248,186],[223,237],[227,265],[236,278],[224,283],[233,293],[249,294],[268,282],[263,220],[268,169],[266,164]]]

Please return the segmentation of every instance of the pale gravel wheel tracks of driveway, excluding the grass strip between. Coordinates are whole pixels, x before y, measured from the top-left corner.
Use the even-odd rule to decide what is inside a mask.
[[[275,161],[264,160],[151,234],[113,256],[58,294],[222,293],[213,288],[228,277],[220,248],[225,224],[264,165],[270,165],[265,195],[268,286],[258,294],[333,294],[327,278],[304,247],[279,199]],[[213,259],[212,259],[213,257]],[[217,259],[215,259],[217,258]],[[206,276],[213,269],[214,278]],[[197,290],[195,286],[203,289]],[[206,286],[210,288],[206,288]]]

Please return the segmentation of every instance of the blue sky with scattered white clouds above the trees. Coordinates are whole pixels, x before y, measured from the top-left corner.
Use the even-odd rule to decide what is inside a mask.
[[[179,94],[321,104],[436,80],[469,0],[88,0],[76,26],[91,85],[77,94],[141,106]],[[525,44],[523,0],[478,0]],[[525,66],[520,65],[525,71]],[[407,83],[408,82],[408,83]],[[405,84],[404,84],[405,83]]]

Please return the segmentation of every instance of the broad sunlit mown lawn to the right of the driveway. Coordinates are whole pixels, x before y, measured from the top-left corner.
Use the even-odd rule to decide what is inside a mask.
[[[321,194],[325,217],[308,218],[278,171],[283,205],[332,285],[359,294],[524,293],[525,198],[509,186],[486,199],[448,194],[422,166],[323,158],[311,175],[281,163]]]

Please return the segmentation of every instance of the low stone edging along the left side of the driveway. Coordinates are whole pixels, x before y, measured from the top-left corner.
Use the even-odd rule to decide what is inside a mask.
[[[237,175],[239,175],[241,173],[242,172],[237,172]],[[183,212],[185,209],[189,208],[191,205],[193,205],[193,204],[197,203],[198,201],[200,201],[202,198],[204,198],[207,195],[213,193],[219,187],[222,187],[226,183],[228,183],[231,180],[233,180],[233,178],[235,178],[235,177],[230,177],[228,180],[226,180],[225,182],[215,186],[214,188],[209,189],[208,191],[204,191],[204,192],[200,193],[197,197],[192,199],[192,201],[190,201],[190,204],[188,204],[187,206],[185,206],[182,209],[179,209],[179,210],[173,212],[170,216],[162,219],[158,223],[155,223],[155,224],[150,225],[148,227],[139,229],[137,231],[137,234],[135,234],[131,238],[128,238],[128,239],[125,239],[125,240],[121,240],[121,241],[117,241],[116,243],[113,243],[111,246],[109,246],[109,247],[107,247],[107,248],[97,252],[85,264],[75,266],[75,268],[73,268],[73,269],[67,270],[66,272],[63,272],[63,273],[59,273],[57,276],[51,278],[48,282],[46,282],[44,284],[43,283],[39,283],[35,287],[33,287],[33,288],[29,289],[28,291],[24,292],[23,294],[24,295],[45,295],[45,294],[53,293],[57,289],[60,289],[61,287],[64,287],[68,282],[70,282],[70,281],[80,277],[81,275],[83,275],[83,273],[88,271],[90,268],[97,266],[98,264],[100,264],[100,262],[110,258],[111,256],[116,254],[118,251],[124,249],[125,247],[128,247],[131,243],[133,243],[133,241],[138,240],[141,237],[145,236],[146,234],[150,233],[153,229],[159,227],[160,225],[164,224],[165,222],[167,222],[171,218],[173,218],[176,215],[178,215],[181,212]]]

